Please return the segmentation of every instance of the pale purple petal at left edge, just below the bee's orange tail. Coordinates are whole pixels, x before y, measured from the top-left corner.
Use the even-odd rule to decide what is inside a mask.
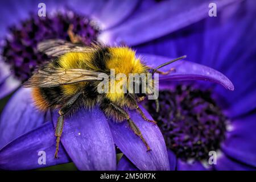
[[[3,109],[0,118],[0,148],[42,125],[45,113],[36,109],[31,89],[20,88]]]

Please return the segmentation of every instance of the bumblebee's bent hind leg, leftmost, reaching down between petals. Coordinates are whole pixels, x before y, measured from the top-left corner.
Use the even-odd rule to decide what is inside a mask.
[[[61,107],[59,110],[59,118],[57,121],[57,126],[55,129],[55,137],[56,139],[56,150],[55,150],[55,155],[54,158],[58,158],[58,152],[59,152],[59,146],[60,146],[60,137],[63,131],[63,125],[64,125],[64,115],[68,113],[69,110],[72,109],[73,104],[76,102],[77,98],[81,95],[81,92],[76,93],[74,96],[69,98],[69,100]]]

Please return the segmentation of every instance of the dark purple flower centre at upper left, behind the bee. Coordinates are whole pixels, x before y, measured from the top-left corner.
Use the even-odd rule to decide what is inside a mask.
[[[73,24],[73,32],[82,38],[85,45],[97,40],[98,26],[87,16],[71,11],[56,13],[52,16],[31,15],[19,26],[10,28],[10,36],[5,39],[2,48],[3,59],[11,66],[14,75],[26,81],[36,67],[49,60],[49,57],[36,50],[39,42],[46,39],[68,40],[68,28]]]

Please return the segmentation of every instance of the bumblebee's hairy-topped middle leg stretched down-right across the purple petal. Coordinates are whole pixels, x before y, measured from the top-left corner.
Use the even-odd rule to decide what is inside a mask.
[[[142,142],[147,147],[147,151],[150,150],[150,147],[148,146],[146,140],[143,138],[141,130],[135,125],[135,123],[130,119],[129,114],[120,106],[117,106],[113,104],[113,102],[110,102],[109,100],[104,100],[100,104],[101,109],[104,111],[106,117],[112,117],[114,119],[117,119],[118,122],[123,122],[127,120],[129,123],[129,126],[133,132],[141,138]]]

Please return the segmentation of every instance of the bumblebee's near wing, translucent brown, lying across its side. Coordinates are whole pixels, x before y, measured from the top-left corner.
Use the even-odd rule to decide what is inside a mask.
[[[23,86],[25,88],[46,88],[75,84],[77,82],[97,81],[102,80],[103,77],[104,75],[101,75],[100,72],[93,72],[85,69],[44,68],[35,73],[28,79],[28,81],[24,82]]]

